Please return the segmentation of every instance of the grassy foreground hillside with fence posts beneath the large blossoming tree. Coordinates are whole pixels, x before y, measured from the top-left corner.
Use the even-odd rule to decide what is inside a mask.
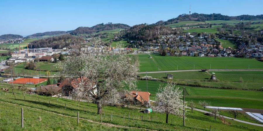
[[[17,91],[16,91],[17,92]],[[6,96],[3,95],[3,91],[0,91],[0,107],[5,108],[5,109],[12,109],[14,110],[9,111],[9,110],[1,110],[1,118],[6,118],[10,117],[11,114],[14,114],[12,116],[13,118],[20,118],[20,108],[18,106],[13,106],[11,104],[7,104],[6,102],[17,104],[17,105],[23,105],[26,107],[31,107],[32,110],[29,108],[24,109],[25,112],[25,125],[30,129],[42,129],[43,125],[48,126],[47,128],[50,130],[63,130],[63,129],[69,129],[70,130],[75,130],[79,129],[82,130],[83,128],[91,128],[90,130],[98,130],[98,126],[92,125],[89,127],[90,123],[85,123],[84,121],[80,121],[79,125],[85,126],[83,128],[77,128],[77,127],[71,127],[75,126],[74,123],[74,118],[68,119],[68,117],[60,117],[57,115],[54,115],[52,113],[46,113],[45,111],[50,111],[58,114],[63,114],[65,116],[77,116],[77,111],[79,111],[80,118],[86,118],[92,121],[100,122],[100,115],[97,115],[97,106],[95,104],[90,103],[87,105],[86,102],[74,102],[74,100],[66,100],[63,98],[59,98],[58,101],[56,101],[56,98],[51,98],[51,97],[46,97],[46,96],[41,96],[38,95],[38,98],[36,95],[25,95],[25,100],[24,100],[24,95],[17,93],[16,99],[14,99],[14,96],[11,95],[11,93],[7,93]],[[50,105],[49,105],[50,102]],[[5,104],[4,104],[5,103]],[[66,104],[66,109],[65,109],[65,104]],[[85,107],[85,108],[84,108]],[[44,111],[38,111],[36,109],[44,110]],[[168,124],[165,123],[165,114],[160,114],[160,113],[155,113],[152,112],[150,114],[143,114],[139,112],[140,110],[138,109],[129,109],[129,108],[120,108],[118,107],[111,107],[111,106],[105,106],[103,108],[103,115],[102,119],[103,122],[105,123],[112,123],[115,125],[124,125],[124,126],[129,126],[129,127],[134,127],[134,128],[147,128],[149,130],[209,130],[211,126],[211,130],[261,130],[261,127],[254,126],[254,125],[248,125],[245,123],[240,123],[232,120],[226,120],[230,124],[225,124],[222,123],[219,119],[217,121],[214,121],[214,118],[211,116],[206,116],[203,113],[199,111],[194,111],[193,113],[188,112],[186,114],[187,120],[186,120],[186,126],[182,126],[182,118],[179,118],[174,115],[169,115],[169,120]],[[32,112],[32,114],[29,114],[28,112]],[[110,114],[113,113],[113,121],[110,121]],[[7,116],[8,114],[8,116]],[[51,114],[51,115],[50,115]],[[123,121],[123,114],[124,114],[124,121]],[[128,115],[130,114],[130,120]],[[41,117],[41,121],[39,116]],[[140,120],[140,117],[143,116],[143,121]],[[64,124],[65,127],[61,127],[60,123],[63,123],[64,121],[60,121],[60,119],[63,119],[66,123]],[[134,120],[133,120],[134,118]],[[152,119],[151,119],[152,118]],[[47,120],[48,119],[48,120]],[[0,119],[1,124],[1,130],[19,130],[19,121],[14,120],[15,124],[11,125],[6,125],[10,124],[11,121],[7,119]],[[68,121],[68,123],[67,123]],[[70,122],[69,122],[70,121]],[[73,123],[72,123],[73,122]],[[75,123],[77,120],[75,119]],[[52,128],[51,125],[54,127]],[[6,126],[2,126],[6,125]],[[95,126],[94,128],[92,128]],[[55,128],[55,129],[54,129]],[[102,130],[104,127],[102,128]],[[111,128],[114,130],[114,128]],[[109,130],[111,130],[109,129]],[[45,129],[44,129],[45,130]],[[86,129],[83,129],[86,130]],[[107,130],[107,129],[106,129]],[[135,129],[136,130],[136,129]]]

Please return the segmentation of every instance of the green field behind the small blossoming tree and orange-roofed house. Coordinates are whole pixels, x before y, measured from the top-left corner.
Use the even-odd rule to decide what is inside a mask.
[[[151,100],[154,100],[155,93],[159,85],[163,82],[148,81],[148,92],[152,95]],[[166,83],[163,83],[164,85]],[[140,80],[137,86],[141,91],[146,91],[146,81]],[[186,101],[193,100],[198,103],[200,100],[211,102],[212,106],[222,107],[243,107],[263,109],[263,92],[262,91],[244,91],[218,88],[202,88],[193,86],[182,86],[186,88]]]

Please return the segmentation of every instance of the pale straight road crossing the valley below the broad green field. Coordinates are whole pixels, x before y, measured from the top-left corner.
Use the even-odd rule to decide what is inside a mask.
[[[198,70],[167,70],[167,71],[150,71],[147,73],[162,73],[162,72],[181,72],[181,71],[201,71],[201,69]],[[263,71],[263,69],[209,69],[208,71]],[[138,74],[144,74],[146,72],[138,72]]]

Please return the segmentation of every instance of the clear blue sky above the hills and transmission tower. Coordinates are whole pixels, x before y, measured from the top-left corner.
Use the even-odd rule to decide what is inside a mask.
[[[168,20],[183,13],[263,14],[263,1],[177,0],[0,0],[0,35],[68,31],[99,23],[130,26]]]

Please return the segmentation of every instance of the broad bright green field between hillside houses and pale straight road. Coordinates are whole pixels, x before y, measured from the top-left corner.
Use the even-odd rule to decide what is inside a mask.
[[[263,69],[263,62],[255,59],[242,59],[235,57],[191,57],[191,56],[160,56],[159,54],[138,55],[140,72],[189,69]]]

